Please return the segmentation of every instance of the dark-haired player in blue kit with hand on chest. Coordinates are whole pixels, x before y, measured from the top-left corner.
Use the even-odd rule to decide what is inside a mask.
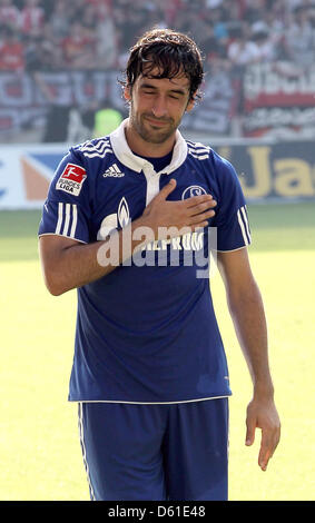
[[[201,81],[193,40],[146,33],[127,65],[129,118],[70,149],[43,208],[47,287],[78,288],[69,399],[92,500],[227,499],[230,388],[205,277],[211,230],[254,384],[246,442],[262,428],[263,470],[278,443],[244,196],[230,164],[177,129]]]

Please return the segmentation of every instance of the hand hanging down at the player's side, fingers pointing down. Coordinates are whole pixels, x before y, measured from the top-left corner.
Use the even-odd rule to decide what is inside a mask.
[[[246,445],[253,445],[255,430],[262,428],[262,442],[258,455],[258,465],[262,471],[267,470],[269,458],[273,456],[280,437],[280,422],[274,401],[268,398],[254,398],[247,407]]]

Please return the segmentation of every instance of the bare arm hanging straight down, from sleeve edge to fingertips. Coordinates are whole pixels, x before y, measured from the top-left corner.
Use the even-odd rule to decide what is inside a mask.
[[[246,445],[252,445],[256,428],[262,430],[258,464],[266,471],[280,435],[274,403],[274,386],[268,363],[267,325],[263,299],[249,265],[247,248],[217,253],[230,316],[254,386],[247,407]]]

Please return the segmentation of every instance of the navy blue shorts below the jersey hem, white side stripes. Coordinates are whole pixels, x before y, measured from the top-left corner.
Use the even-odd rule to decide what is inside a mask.
[[[79,403],[91,500],[227,500],[228,398]]]

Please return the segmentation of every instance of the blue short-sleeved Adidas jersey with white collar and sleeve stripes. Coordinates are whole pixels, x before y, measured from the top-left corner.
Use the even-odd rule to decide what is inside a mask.
[[[136,156],[125,125],[69,150],[51,181],[39,236],[82,244],[105,239],[144,213],[175,178],[168,199],[211,194],[209,228],[160,241],[77,289],[70,401],[177,403],[230,395],[211,302],[209,230],[217,250],[250,243],[246,204],[233,166],[177,130],[171,160],[156,171]],[[199,256],[203,253],[203,256]]]

